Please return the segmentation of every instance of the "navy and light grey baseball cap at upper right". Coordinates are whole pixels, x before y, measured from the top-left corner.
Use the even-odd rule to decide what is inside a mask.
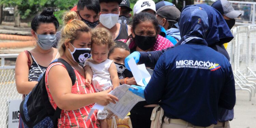
[[[212,7],[218,10],[222,15],[234,19],[242,15],[242,13],[234,10],[232,4],[228,0],[217,0],[212,4]]]

